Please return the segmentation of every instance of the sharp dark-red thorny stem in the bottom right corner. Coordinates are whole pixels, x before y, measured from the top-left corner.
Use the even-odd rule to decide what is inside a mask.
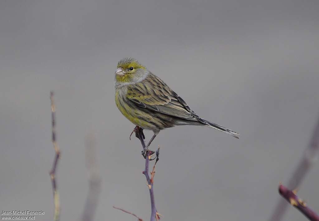
[[[309,209],[306,203],[295,195],[295,191],[291,191],[282,184],[279,185],[279,194],[284,197],[291,205],[302,212],[309,220],[319,221],[319,216]]]

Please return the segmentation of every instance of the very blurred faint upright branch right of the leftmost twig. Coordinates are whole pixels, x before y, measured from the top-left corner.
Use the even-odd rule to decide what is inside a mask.
[[[101,191],[101,177],[96,157],[96,139],[93,134],[85,138],[85,160],[89,171],[89,192],[86,197],[82,220],[94,220],[95,210]]]

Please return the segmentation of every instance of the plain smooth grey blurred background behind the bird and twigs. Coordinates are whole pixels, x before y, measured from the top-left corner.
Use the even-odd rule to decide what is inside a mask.
[[[0,210],[52,220],[49,91],[62,150],[61,220],[78,220],[97,137],[102,192],[95,220],[149,219],[144,160],[114,103],[120,58],[145,64],[203,118],[159,133],[155,197],[163,220],[267,220],[319,112],[318,1],[0,2]],[[146,138],[152,133],[146,132]],[[319,212],[318,164],[299,191]],[[289,208],[285,220],[306,220]]]

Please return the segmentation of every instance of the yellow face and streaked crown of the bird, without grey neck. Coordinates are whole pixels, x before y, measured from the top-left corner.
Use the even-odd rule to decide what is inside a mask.
[[[146,68],[139,62],[137,62],[137,60],[132,58],[125,58],[117,64],[115,79],[116,81],[122,83],[131,82],[137,72],[145,69]]]

